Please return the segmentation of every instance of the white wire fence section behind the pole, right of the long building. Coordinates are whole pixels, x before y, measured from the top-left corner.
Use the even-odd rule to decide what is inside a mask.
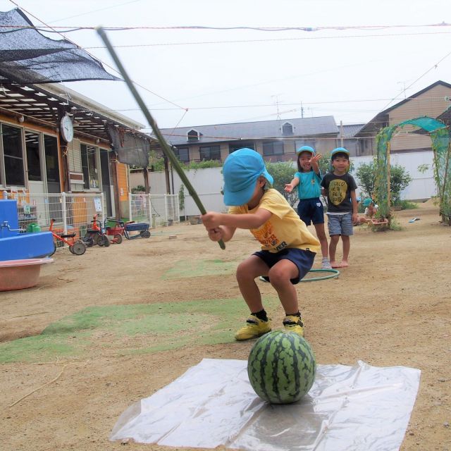
[[[150,227],[171,226],[180,222],[178,194],[129,193],[130,221]]]

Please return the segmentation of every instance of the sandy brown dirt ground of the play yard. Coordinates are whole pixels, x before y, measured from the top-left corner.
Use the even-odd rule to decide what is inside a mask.
[[[414,216],[420,220],[409,223]],[[306,336],[319,364],[353,365],[363,360],[373,366],[420,369],[419,393],[401,449],[450,451],[451,228],[439,223],[431,201],[397,212],[397,218],[400,231],[354,229],[350,266],[342,268],[338,278],[297,285]],[[203,358],[247,359],[252,342],[233,341],[235,328],[247,316],[233,267],[257,248],[252,236],[240,230],[221,250],[207,239],[202,225],[183,223],[152,230],[149,240],[92,247],[82,256],[63,249],[53,264],[42,267],[39,285],[0,292],[0,448],[173,449],[121,445],[108,437],[130,404],[152,395]],[[225,270],[208,273],[209,261],[223,262]],[[168,277],[174,267],[180,278],[177,271],[175,278]],[[192,268],[190,276],[180,268]],[[274,299],[271,285],[259,286],[265,297]],[[239,299],[233,313],[236,323],[221,326],[226,338],[216,344],[208,341],[209,322],[218,323],[214,314],[209,321],[193,320],[194,327],[184,315],[178,316],[178,323],[170,314],[163,316],[163,323],[172,319],[172,332],[165,335],[172,340],[167,350],[146,351],[143,343],[156,345],[163,337],[152,330],[119,336],[101,327],[92,331],[91,345],[77,352],[61,347],[58,353],[55,347],[46,354],[45,342],[35,347],[27,342],[86,307],[167,303],[177,313],[190,301],[205,301],[208,309],[211,299]],[[277,302],[272,305],[273,324],[280,328],[283,311]],[[178,324],[185,340],[180,345]],[[199,328],[203,341],[196,338]],[[75,342],[78,335],[75,330],[65,337]],[[25,344],[27,352],[21,354]],[[16,354],[11,354],[13,345]],[[132,352],[135,348],[142,351]],[[8,360],[11,355],[16,357]]]

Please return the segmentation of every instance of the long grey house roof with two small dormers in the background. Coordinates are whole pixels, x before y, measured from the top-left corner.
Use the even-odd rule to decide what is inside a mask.
[[[282,134],[282,127],[285,123],[292,125],[292,135]],[[195,130],[200,134],[200,140],[196,141],[196,143],[281,139],[300,136],[336,135],[338,133],[338,128],[333,116],[163,128],[161,129],[161,133],[171,144],[180,145],[187,144],[187,133],[190,132],[190,130]]]

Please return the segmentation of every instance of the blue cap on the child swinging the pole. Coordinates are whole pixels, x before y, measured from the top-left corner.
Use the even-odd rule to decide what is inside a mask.
[[[274,180],[266,171],[263,158],[258,152],[245,147],[230,154],[223,166],[224,204],[247,204],[254,194],[255,183],[260,175],[273,184]]]

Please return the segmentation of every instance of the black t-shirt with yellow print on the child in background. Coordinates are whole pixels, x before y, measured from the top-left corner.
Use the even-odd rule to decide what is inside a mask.
[[[352,175],[328,173],[324,175],[321,186],[326,188],[328,212],[342,214],[352,212],[351,191],[357,189]]]

